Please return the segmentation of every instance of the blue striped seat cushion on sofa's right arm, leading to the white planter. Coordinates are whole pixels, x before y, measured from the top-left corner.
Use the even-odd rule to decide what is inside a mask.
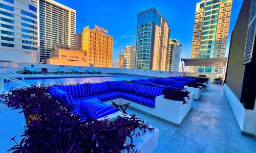
[[[140,96],[137,94],[127,93],[122,91],[117,91],[117,92],[120,93],[121,98],[134,101],[135,103],[138,103],[147,107],[155,108],[155,99],[153,98],[148,98],[148,97]]]

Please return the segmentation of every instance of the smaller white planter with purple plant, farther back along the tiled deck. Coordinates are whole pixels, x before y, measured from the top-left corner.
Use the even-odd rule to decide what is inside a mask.
[[[206,86],[198,82],[190,82],[184,86],[184,89],[194,93],[194,99],[198,100],[202,96],[202,91],[206,89]]]

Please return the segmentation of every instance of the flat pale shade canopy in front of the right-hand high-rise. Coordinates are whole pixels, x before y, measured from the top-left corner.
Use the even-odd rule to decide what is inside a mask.
[[[225,66],[227,58],[181,59],[184,66]]]

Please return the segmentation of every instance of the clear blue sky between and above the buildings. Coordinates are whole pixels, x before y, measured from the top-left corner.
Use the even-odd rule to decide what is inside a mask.
[[[118,54],[126,45],[136,45],[137,13],[155,7],[168,21],[170,38],[183,45],[181,58],[190,58],[196,3],[201,0],[148,0],[148,1],[87,1],[55,0],[76,10],[76,33],[94,24],[109,30],[114,37],[113,67],[117,67]],[[184,5],[186,2],[186,5]],[[231,32],[236,23],[243,0],[233,0],[226,57],[228,56]]]

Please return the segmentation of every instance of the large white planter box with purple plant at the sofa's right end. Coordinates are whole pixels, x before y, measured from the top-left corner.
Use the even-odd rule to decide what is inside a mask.
[[[160,117],[179,125],[193,106],[193,95],[182,89],[164,90],[163,95],[156,97],[156,104],[162,107],[162,112],[166,112],[161,113]]]

